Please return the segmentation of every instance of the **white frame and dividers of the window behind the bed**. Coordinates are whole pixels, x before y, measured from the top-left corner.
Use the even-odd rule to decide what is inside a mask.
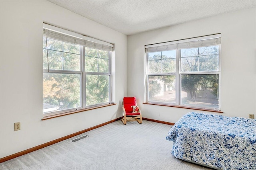
[[[145,45],[145,53],[146,53],[146,102],[149,104],[160,104],[160,105],[170,105],[170,106],[181,106],[181,107],[191,107],[191,108],[198,108],[198,109],[207,109],[207,110],[215,110],[221,111],[221,34],[214,34],[202,37],[195,37],[190,39],[182,39],[178,41],[170,41],[165,43],[156,43],[152,45]],[[215,46],[214,44],[209,45],[208,40],[216,39],[216,44],[219,46],[219,59],[218,59],[218,70],[216,71],[198,71],[198,72],[182,72],[181,71],[181,49],[190,49],[190,48],[198,48],[198,47],[207,47],[207,46]],[[200,41],[205,41],[206,44],[200,43]],[[191,45],[191,46],[190,46]],[[169,48],[169,49],[168,49]],[[168,72],[168,73],[148,73],[148,53],[152,52],[162,52],[162,51],[170,51],[176,50],[176,72]],[[193,106],[193,105],[186,105],[182,104],[181,100],[181,76],[188,75],[188,74],[200,74],[200,75],[207,75],[207,74],[218,74],[218,108],[214,107],[200,107],[200,106]],[[163,102],[155,102],[149,101],[149,91],[148,91],[148,77],[149,76],[164,76],[164,75],[175,75],[176,79],[176,104],[171,103],[163,103]]]

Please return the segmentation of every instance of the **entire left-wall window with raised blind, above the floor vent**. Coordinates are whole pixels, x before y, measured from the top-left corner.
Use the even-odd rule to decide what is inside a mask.
[[[50,28],[50,29],[49,29]],[[109,104],[113,45],[44,24],[44,114]],[[75,34],[73,36],[73,34]],[[99,42],[99,40],[96,40]],[[106,45],[107,44],[107,45]]]

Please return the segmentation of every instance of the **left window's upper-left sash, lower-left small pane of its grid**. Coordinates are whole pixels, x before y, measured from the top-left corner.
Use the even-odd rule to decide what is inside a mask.
[[[62,52],[48,50],[48,60],[50,70],[62,70]]]

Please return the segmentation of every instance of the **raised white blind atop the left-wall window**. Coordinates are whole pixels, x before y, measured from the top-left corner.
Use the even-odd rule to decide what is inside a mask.
[[[46,27],[50,27],[50,29]],[[52,28],[53,29],[55,28],[56,30],[53,30]],[[60,32],[59,30],[63,32]],[[78,33],[74,33],[72,31],[54,27],[48,24],[44,24],[43,35],[51,39],[56,39],[56,40],[64,41],[67,43],[77,44],[77,45],[84,45],[85,47],[89,47],[89,48],[94,48],[94,49],[99,49],[104,51],[114,50],[113,44],[110,44],[98,39],[94,39],[91,37],[87,37]]]

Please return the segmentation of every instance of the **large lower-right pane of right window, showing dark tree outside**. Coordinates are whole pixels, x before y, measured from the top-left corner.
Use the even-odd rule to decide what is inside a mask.
[[[181,75],[181,103],[218,108],[218,74]]]

